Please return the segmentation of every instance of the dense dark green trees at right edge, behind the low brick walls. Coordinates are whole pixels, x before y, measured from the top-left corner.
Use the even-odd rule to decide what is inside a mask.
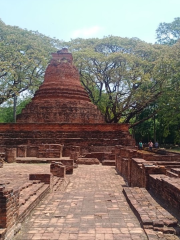
[[[180,143],[180,42],[177,42],[166,49],[164,55],[166,61],[168,78],[166,87],[161,96],[147,109],[136,116],[134,122],[140,121],[147,111],[156,108],[156,115],[152,119],[145,121],[133,130],[137,140],[157,139],[159,143]],[[148,127],[147,127],[148,125]],[[155,132],[154,132],[155,130]]]

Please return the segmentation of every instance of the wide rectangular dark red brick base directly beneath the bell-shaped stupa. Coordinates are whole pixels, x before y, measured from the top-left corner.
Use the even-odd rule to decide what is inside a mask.
[[[128,133],[128,124],[0,124],[0,145],[18,147],[19,145],[36,146],[41,144],[61,144],[66,147],[79,146],[82,151],[115,145],[134,145]],[[63,155],[64,156],[64,155]]]

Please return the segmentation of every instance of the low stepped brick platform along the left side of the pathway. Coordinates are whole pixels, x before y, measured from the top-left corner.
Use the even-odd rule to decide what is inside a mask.
[[[0,176],[0,239],[12,239],[50,191],[63,191],[69,184],[68,178],[50,174],[49,164],[5,163]]]

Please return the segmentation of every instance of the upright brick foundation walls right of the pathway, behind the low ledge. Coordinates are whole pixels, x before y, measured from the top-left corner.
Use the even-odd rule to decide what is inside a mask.
[[[128,186],[147,189],[161,203],[163,202],[167,209],[170,208],[174,213],[179,212],[180,155],[170,154],[169,158],[168,155],[165,158],[162,155],[157,158],[156,156],[154,153],[146,154],[145,151],[116,146],[116,169]],[[134,201],[136,202],[136,199]],[[152,239],[153,236],[154,239],[159,239],[157,234],[153,235],[152,232],[149,234]],[[163,237],[162,239],[166,239]]]

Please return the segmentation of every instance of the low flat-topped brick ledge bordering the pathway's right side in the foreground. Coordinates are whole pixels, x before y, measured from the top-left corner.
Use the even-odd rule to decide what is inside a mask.
[[[152,229],[163,234],[177,233],[177,219],[162,208],[146,189],[124,188],[123,193],[144,229]]]

